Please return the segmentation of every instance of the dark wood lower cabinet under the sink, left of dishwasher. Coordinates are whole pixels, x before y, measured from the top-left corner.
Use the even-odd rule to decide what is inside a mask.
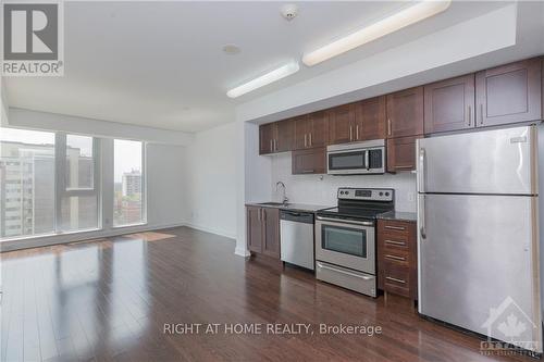
[[[246,207],[247,248],[280,260],[280,209]]]

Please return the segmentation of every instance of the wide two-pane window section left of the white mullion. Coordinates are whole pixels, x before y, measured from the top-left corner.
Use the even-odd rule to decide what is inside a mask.
[[[100,226],[99,142],[0,128],[0,238]]]

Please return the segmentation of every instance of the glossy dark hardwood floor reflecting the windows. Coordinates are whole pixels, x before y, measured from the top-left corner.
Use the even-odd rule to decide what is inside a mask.
[[[186,227],[1,254],[2,361],[492,361],[480,340],[374,300],[236,257]],[[219,323],[218,334],[164,334]],[[231,323],[307,323],[299,335],[224,334]],[[319,324],[381,335],[321,335]],[[532,361],[518,357],[519,361]]]

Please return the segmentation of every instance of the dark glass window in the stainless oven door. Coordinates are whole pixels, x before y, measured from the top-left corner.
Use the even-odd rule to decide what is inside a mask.
[[[367,230],[344,226],[322,225],[321,248],[343,254],[367,258]]]

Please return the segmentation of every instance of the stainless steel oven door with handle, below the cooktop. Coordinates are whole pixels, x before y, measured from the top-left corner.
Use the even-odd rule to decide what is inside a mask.
[[[316,259],[375,275],[374,233],[373,222],[318,216]]]

